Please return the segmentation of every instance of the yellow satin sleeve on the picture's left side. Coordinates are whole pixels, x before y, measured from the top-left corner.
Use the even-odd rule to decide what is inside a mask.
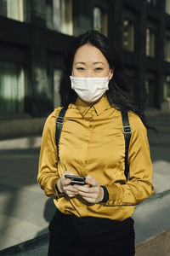
[[[57,170],[57,148],[55,144],[55,118],[57,108],[48,116],[42,132],[42,145],[39,156],[37,181],[47,196],[59,197],[55,184],[59,180]]]

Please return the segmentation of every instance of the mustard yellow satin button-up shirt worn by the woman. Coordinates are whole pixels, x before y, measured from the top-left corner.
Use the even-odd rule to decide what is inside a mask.
[[[105,97],[90,107],[80,98],[70,104],[59,141],[55,144],[55,120],[61,108],[48,116],[42,133],[38,183],[47,196],[54,197],[60,212],[77,217],[92,216],[124,220],[136,204],[153,193],[152,164],[147,131],[135,113],[128,112],[132,127],[128,164],[130,179],[124,176],[125,139],[121,112]],[[105,204],[90,204],[80,197],[59,198],[55,184],[65,171],[84,177],[91,175],[109,192]]]

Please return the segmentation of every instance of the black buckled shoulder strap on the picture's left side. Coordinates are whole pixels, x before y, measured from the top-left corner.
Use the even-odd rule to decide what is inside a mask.
[[[60,139],[63,123],[65,120],[66,110],[67,110],[67,108],[62,108],[59,112],[59,116],[56,118],[55,142],[56,142],[56,147],[57,147],[58,159],[59,159],[59,139]]]

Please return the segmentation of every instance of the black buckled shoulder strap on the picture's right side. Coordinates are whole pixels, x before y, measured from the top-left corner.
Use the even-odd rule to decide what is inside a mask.
[[[131,126],[129,125],[127,111],[122,111],[122,125],[123,125],[122,132],[125,137],[125,171],[124,171],[124,174],[125,174],[126,178],[128,179],[129,166],[128,166],[127,158],[128,158],[128,147],[129,147],[129,143],[130,143],[132,129],[131,129]]]

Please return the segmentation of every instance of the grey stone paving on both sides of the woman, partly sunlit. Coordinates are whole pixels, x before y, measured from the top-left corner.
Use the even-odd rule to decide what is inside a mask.
[[[170,117],[152,117],[149,124],[159,131],[149,131],[155,194],[133,214],[136,244],[170,230]],[[19,243],[27,249],[14,255],[47,255],[48,236],[42,235],[55,208],[37,185],[40,144],[41,137],[0,141],[0,255],[10,255],[3,249]],[[42,239],[30,246],[22,243],[37,236]]]

